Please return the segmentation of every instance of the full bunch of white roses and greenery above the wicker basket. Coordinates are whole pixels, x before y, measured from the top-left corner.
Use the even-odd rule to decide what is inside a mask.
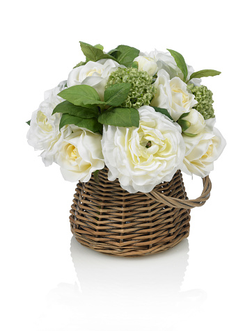
[[[152,191],[177,170],[206,177],[226,145],[214,126],[212,92],[177,51],[108,53],[80,42],[86,56],[67,81],[45,92],[27,134],[46,166],[68,181],[89,181],[106,165],[129,193]]]

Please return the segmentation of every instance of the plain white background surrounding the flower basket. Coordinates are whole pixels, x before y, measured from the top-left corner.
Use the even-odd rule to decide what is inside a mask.
[[[7,3],[7,4],[6,4]],[[1,330],[252,330],[249,1],[6,1],[1,6]],[[212,195],[173,250],[88,250],[68,222],[75,184],[26,143],[43,92],[84,59],[79,40],[180,51],[214,92],[228,145]],[[201,180],[184,176],[187,193]]]

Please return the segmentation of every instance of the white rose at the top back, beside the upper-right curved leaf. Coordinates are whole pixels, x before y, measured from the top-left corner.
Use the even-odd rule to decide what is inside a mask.
[[[157,51],[157,49],[155,49],[155,51],[151,51],[150,53],[140,52],[140,55],[153,58],[155,60],[155,62],[157,63],[158,70],[161,70],[161,69],[166,70],[166,72],[168,72],[168,74],[171,78],[176,77],[176,76],[180,77],[180,79],[184,78],[182,71],[176,64],[173,56],[171,56],[171,53],[169,51],[164,52],[164,51]],[[187,71],[188,71],[188,74],[187,74],[186,81],[189,80],[191,74],[194,72],[194,68],[191,67],[191,65],[187,65]],[[200,86],[200,82],[201,82],[201,79],[198,79],[198,78],[194,78],[194,79],[191,79],[191,81],[189,81],[189,83],[193,83],[196,86]]]

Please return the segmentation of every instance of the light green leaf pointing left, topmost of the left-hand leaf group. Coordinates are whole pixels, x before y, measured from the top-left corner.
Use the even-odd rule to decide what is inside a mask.
[[[75,106],[83,106],[84,104],[104,104],[100,101],[97,91],[88,85],[75,85],[58,93],[60,97],[68,100]]]

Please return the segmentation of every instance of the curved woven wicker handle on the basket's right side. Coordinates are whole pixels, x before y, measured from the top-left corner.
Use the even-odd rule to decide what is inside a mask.
[[[205,204],[205,202],[210,198],[210,191],[212,189],[212,183],[210,181],[209,176],[203,178],[203,191],[200,197],[194,200],[185,200],[185,199],[178,199],[176,197],[167,197],[162,193],[152,190],[150,193],[145,193],[151,199],[161,202],[168,207],[173,208],[182,208],[182,209],[192,209],[194,207],[200,207]]]

